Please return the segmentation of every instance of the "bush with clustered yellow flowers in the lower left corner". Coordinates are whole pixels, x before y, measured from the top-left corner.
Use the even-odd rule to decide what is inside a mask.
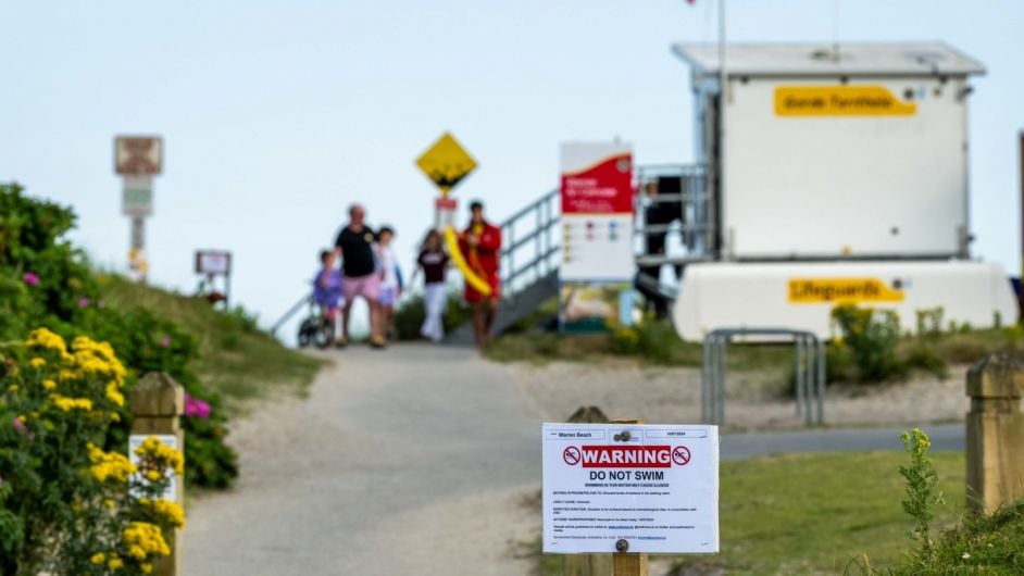
[[[150,438],[137,463],[101,446],[125,416],[127,371],[105,342],[40,328],[0,376],[0,574],[139,575],[184,525],[161,496],[180,452]]]

